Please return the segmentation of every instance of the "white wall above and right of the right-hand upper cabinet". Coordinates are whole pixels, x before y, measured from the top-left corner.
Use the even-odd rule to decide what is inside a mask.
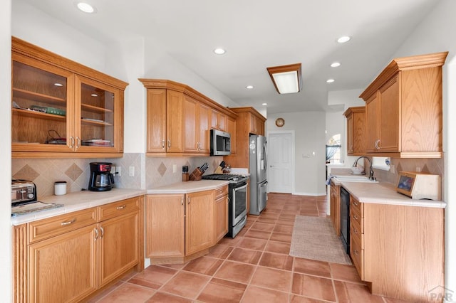
[[[456,1],[442,0],[404,41],[393,58],[449,51],[443,68],[443,134],[445,179],[445,287],[456,302]],[[430,285],[432,288],[433,285]],[[450,297],[447,297],[450,302]]]

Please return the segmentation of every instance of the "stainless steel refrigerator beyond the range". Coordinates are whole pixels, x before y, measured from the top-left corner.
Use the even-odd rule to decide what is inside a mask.
[[[249,172],[250,172],[250,211],[259,215],[266,207],[267,193],[266,168],[267,149],[266,137],[251,134],[249,137]]]

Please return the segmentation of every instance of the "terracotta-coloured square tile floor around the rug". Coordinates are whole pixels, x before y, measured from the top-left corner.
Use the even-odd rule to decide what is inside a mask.
[[[130,273],[90,302],[400,302],[371,295],[353,266],[289,256],[296,215],[326,216],[326,196],[269,193],[261,215],[209,255]]]

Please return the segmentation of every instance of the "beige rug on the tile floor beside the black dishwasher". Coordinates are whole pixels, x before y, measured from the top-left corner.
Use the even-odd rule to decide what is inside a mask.
[[[289,255],[351,265],[331,218],[296,216]]]

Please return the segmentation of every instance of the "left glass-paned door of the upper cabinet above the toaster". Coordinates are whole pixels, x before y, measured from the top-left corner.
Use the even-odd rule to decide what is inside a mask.
[[[73,151],[72,73],[12,54],[12,151]]]

